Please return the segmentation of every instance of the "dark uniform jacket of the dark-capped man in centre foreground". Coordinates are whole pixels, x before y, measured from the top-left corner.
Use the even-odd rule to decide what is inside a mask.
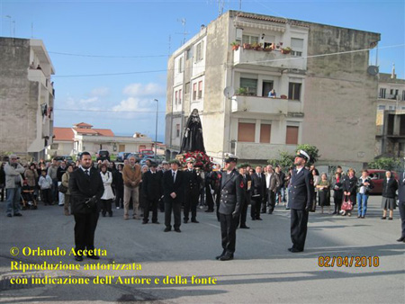
[[[223,172],[220,177],[220,213],[238,216],[245,197],[245,184],[242,175],[236,169],[229,174]]]

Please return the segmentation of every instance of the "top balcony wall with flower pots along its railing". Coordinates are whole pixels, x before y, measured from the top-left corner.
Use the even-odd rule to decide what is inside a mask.
[[[302,57],[295,57],[290,54],[282,54],[278,49],[272,51],[243,49],[240,46],[237,50],[233,50],[233,64],[241,65],[257,65],[265,67],[280,67],[280,68],[297,68],[300,70],[307,69],[307,61]]]

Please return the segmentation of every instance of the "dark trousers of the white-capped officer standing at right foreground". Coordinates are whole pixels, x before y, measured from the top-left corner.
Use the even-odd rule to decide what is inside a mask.
[[[303,250],[307,237],[308,212],[306,210],[291,210],[291,241],[293,248]]]

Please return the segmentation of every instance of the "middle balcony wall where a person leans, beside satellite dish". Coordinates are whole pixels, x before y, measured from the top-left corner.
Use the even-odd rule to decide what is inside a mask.
[[[288,112],[302,112],[302,103],[283,98],[236,95],[232,97],[231,111],[286,115]]]

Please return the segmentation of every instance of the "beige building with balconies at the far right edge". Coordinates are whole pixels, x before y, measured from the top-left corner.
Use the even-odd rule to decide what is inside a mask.
[[[375,156],[405,157],[405,79],[380,73]]]

